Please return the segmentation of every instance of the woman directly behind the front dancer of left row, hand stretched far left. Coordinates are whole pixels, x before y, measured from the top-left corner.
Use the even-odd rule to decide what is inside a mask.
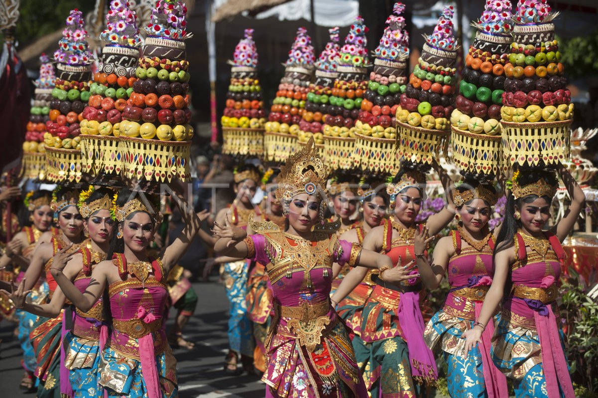
[[[75,285],[83,290],[89,285],[91,271],[97,263],[106,259],[112,230],[112,191],[101,188],[93,191],[93,187],[81,192],[78,208],[83,217],[84,229],[89,232],[89,240],[78,249],[77,253],[66,254],[70,245],[60,250],[53,258],[53,268],[64,268],[64,274]],[[65,259],[72,256],[68,265]],[[22,283],[23,285],[23,283]],[[61,314],[65,305],[65,296],[60,288],[56,288],[50,303],[33,305],[25,302],[29,292],[20,287],[11,299],[18,308],[38,315],[55,318]],[[74,313],[73,313],[74,312]],[[66,311],[66,319],[72,320],[72,330],[63,336],[63,349],[60,350],[60,382],[70,382],[72,394],[69,397],[103,397],[102,386],[99,385],[100,345],[105,344],[107,337],[106,316],[103,314],[102,300],[99,300],[90,311]],[[63,326],[69,321],[63,322]],[[63,327],[63,330],[66,329]],[[48,382],[46,381],[46,384]],[[61,391],[65,389],[61,387]]]

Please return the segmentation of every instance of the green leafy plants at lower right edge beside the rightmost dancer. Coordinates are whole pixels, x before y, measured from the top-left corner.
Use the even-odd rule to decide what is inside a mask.
[[[578,385],[576,397],[593,398],[598,394],[598,304],[586,296],[589,289],[579,275],[569,268],[571,277],[563,283],[560,315],[567,339],[566,356],[573,381]]]

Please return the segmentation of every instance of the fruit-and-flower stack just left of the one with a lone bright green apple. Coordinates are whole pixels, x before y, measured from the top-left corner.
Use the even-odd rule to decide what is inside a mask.
[[[395,3],[393,14],[386,20],[388,26],[376,48],[374,70],[370,72],[359,112],[359,131],[363,135],[373,133],[378,136],[380,129],[371,127],[382,126],[383,138],[396,138],[396,110],[407,87],[405,60],[409,55],[409,35],[405,31],[405,19],[401,16],[404,10],[402,3]]]

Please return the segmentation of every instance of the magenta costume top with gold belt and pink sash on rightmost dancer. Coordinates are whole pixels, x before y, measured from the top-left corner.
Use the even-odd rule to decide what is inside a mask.
[[[513,290],[502,305],[502,317],[509,320],[512,327],[535,329],[538,332],[548,398],[557,398],[560,397],[559,379],[569,379],[559,336],[559,316],[558,313],[554,313],[559,295],[557,281],[566,254],[556,235],[545,232],[545,236],[547,239],[524,237],[521,232],[515,235],[517,259],[511,266]],[[527,252],[527,246],[532,251]],[[535,360],[537,358],[529,358],[521,364],[519,372],[524,373],[535,364],[528,362]],[[573,387],[570,383],[560,383],[560,387],[566,398],[573,398]]]

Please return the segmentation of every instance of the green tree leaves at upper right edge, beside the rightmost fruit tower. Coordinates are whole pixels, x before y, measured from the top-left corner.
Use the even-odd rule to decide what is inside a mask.
[[[598,29],[567,40],[559,38],[559,50],[568,77],[589,77],[598,72]]]

